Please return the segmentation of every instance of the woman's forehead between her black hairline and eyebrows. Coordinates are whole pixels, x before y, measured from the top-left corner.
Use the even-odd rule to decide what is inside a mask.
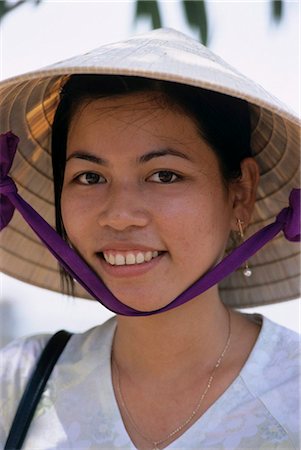
[[[109,161],[136,164],[154,152],[180,152],[182,161],[190,160],[195,168],[210,163],[216,171],[218,166],[195,121],[178,105],[173,107],[172,102],[153,93],[82,102],[70,123],[66,156],[81,152],[107,161],[107,165]]]

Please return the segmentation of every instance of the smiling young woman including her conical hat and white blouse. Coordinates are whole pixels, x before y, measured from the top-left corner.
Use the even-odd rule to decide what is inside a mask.
[[[296,246],[277,236],[249,267],[247,257],[262,244],[246,242],[238,249],[242,270],[224,291],[217,284],[237,266],[232,256],[223,262],[230,247],[256,223],[270,223],[296,187],[293,115],[171,30],[98,49],[3,89],[3,131],[21,137],[12,176],[28,192],[39,185],[42,204],[51,150],[56,228],[67,244],[57,250],[48,241],[50,231],[44,235],[34,213],[27,216],[27,206],[12,199],[6,173],[3,196],[46,236],[69,292],[80,292],[75,278],[117,313],[71,337],[23,448],[297,449],[298,339],[230,308],[297,295]],[[3,153],[14,139],[2,137]],[[4,166],[3,173],[6,160]],[[24,173],[29,166],[31,175]],[[39,199],[30,203],[38,207]],[[277,219],[289,240],[299,233],[288,219],[297,214],[295,203]],[[8,237],[19,222],[9,227]],[[3,444],[48,340],[22,339],[2,351]]]

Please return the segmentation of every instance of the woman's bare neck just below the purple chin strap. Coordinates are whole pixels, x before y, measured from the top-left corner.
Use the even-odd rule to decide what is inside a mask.
[[[118,316],[114,358],[137,377],[181,376],[195,366],[211,370],[227,341],[229,314],[216,289],[171,311],[147,317]]]

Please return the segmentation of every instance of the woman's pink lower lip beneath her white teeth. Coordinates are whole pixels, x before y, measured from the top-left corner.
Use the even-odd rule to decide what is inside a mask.
[[[119,248],[119,250],[121,250]],[[133,250],[133,249],[132,249]],[[139,250],[141,250],[141,247],[139,247]],[[124,251],[124,250],[123,250]],[[150,251],[150,250],[144,250],[144,251]],[[163,252],[161,255],[157,256],[156,258],[151,259],[149,262],[144,262],[141,264],[131,264],[131,265],[124,265],[124,266],[112,266],[111,264],[107,263],[105,259],[103,259],[102,256],[98,253],[96,255],[99,264],[101,266],[101,269],[108,275],[117,277],[117,278],[127,278],[127,277],[137,277],[144,275],[148,271],[154,269],[158,264],[160,264],[162,258],[167,254],[167,252]]]

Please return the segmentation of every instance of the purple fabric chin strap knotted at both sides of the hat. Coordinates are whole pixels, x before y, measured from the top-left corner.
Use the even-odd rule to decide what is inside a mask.
[[[280,211],[275,222],[251,236],[168,305],[155,311],[138,311],[118,300],[88,264],[20,197],[14,181],[8,176],[18,142],[19,138],[11,132],[0,135],[0,229],[9,224],[16,208],[70,275],[92,297],[114,313],[126,316],[148,316],[168,311],[202,294],[231,274],[280,231],[284,232],[289,241],[300,241],[300,189],[293,189],[289,197],[289,206]]]

